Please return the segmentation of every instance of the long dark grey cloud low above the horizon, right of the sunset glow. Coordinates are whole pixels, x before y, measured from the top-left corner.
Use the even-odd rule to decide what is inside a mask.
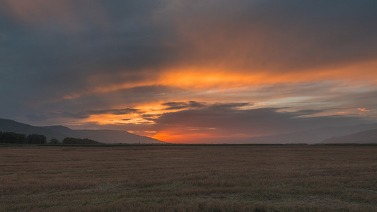
[[[156,125],[208,129],[216,128],[216,134],[266,135],[320,126],[341,126],[349,123],[360,124],[365,120],[359,117],[308,117],[321,110],[298,110],[286,112],[284,108],[258,108],[245,110],[248,103],[207,104],[206,107],[192,108],[178,112],[164,113],[158,119],[150,119]]]

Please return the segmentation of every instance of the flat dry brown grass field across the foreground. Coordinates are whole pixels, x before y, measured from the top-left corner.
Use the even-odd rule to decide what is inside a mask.
[[[0,211],[377,211],[377,146],[0,147]]]

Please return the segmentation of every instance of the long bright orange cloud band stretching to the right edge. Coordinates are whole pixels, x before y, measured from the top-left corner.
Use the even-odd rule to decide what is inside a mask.
[[[359,69],[363,70],[360,74]],[[247,86],[262,86],[277,83],[302,83],[311,81],[353,81],[354,83],[377,83],[377,61],[349,64],[348,66],[325,66],[318,69],[303,71],[263,71],[263,70],[233,70],[226,66],[192,66],[169,68],[153,73],[154,78],[143,78],[140,81],[111,83],[87,90],[83,93],[67,95],[65,99],[79,98],[92,93],[109,93],[137,86],[172,86],[188,90],[242,88]],[[145,71],[148,73],[148,71]],[[141,73],[144,74],[144,73]],[[124,74],[123,74],[124,75]],[[119,76],[127,79],[126,76]],[[88,83],[100,84],[103,77],[91,77]]]

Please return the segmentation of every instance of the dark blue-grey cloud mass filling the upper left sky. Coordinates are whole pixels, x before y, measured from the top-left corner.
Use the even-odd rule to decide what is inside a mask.
[[[2,5],[0,25],[6,39],[1,43],[0,69],[6,76],[0,81],[22,98],[46,99],[110,83],[144,81],[153,77],[145,69],[156,71],[174,58],[164,44],[166,30],[151,25],[151,13],[158,6],[153,1],[38,0],[2,1]],[[33,89],[12,86],[20,81]]]

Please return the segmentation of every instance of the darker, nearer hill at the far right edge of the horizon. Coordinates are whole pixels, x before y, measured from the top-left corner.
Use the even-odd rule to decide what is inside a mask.
[[[321,143],[377,143],[377,129],[325,139]]]

